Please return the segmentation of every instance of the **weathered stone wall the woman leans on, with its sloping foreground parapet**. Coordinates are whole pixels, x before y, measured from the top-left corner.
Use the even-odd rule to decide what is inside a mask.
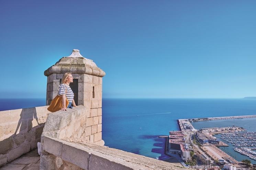
[[[85,115],[89,115],[87,108],[81,105],[68,109],[67,112],[49,114],[41,138],[40,170],[186,169],[161,160],[109,148],[101,142],[85,141],[88,130],[88,118],[84,120]]]

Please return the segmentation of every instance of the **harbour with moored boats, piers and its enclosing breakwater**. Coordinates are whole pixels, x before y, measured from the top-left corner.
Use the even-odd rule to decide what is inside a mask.
[[[255,164],[255,117],[256,115],[179,119],[178,125],[185,134],[194,135],[203,144],[202,151],[212,160],[239,164],[243,159],[250,159]]]

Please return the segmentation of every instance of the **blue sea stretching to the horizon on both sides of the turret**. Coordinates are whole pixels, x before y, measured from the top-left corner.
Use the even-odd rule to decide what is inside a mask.
[[[0,99],[0,102],[0,110],[45,105],[45,99]],[[179,130],[177,119],[241,115],[256,115],[255,99],[105,98],[102,99],[102,139],[105,146],[165,160],[168,158],[164,154],[165,139],[158,136]],[[251,121],[237,120],[240,123],[230,122],[230,125],[248,124],[244,128],[256,131],[256,123],[252,123],[256,122],[255,118]],[[227,123],[203,121],[193,125],[200,128],[226,126]],[[231,153],[233,149],[229,148],[226,152]]]

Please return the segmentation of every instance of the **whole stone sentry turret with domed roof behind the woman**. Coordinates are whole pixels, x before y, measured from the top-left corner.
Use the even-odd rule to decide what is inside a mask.
[[[83,57],[79,50],[74,49],[70,56],[60,58],[56,64],[44,71],[44,75],[47,76],[46,105],[49,105],[58,94],[60,79],[67,72],[71,72],[78,82],[78,86],[72,86],[70,83],[71,89],[78,92],[76,104],[90,109],[86,116],[86,140],[97,142],[101,140],[102,77],[105,76],[105,72],[92,60]],[[97,138],[94,138],[96,136]]]

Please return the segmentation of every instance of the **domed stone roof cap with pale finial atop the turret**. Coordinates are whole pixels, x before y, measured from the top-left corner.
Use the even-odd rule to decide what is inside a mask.
[[[62,57],[53,66],[44,71],[45,76],[51,74],[64,74],[71,72],[73,74],[88,74],[93,76],[103,77],[105,72],[97,67],[97,65],[90,59],[83,57],[79,50],[74,49],[71,55]]]

